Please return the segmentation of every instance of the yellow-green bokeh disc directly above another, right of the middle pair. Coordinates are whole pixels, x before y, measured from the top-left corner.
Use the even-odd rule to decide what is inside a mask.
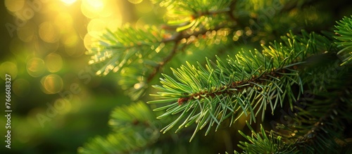
[[[58,72],[63,67],[63,59],[56,53],[50,53],[45,57],[45,64],[49,72]]]

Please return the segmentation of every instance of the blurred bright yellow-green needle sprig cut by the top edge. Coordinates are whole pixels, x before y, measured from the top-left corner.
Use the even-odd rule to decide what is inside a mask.
[[[154,1],[168,8],[168,28],[176,32],[193,32],[199,28],[212,29],[214,25],[229,23],[227,14],[232,1]],[[173,29],[172,28],[172,29]]]

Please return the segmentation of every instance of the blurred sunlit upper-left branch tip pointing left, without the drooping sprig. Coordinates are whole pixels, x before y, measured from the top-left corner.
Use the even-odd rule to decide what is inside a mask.
[[[101,63],[110,59],[96,75],[107,75],[113,70],[118,72],[137,60],[137,57],[149,57],[153,52],[161,51],[160,42],[165,32],[156,27],[145,26],[145,29],[134,29],[130,25],[116,32],[108,30],[103,34],[100,45],[94,46],[87,54],[94,55],[89,64]]]

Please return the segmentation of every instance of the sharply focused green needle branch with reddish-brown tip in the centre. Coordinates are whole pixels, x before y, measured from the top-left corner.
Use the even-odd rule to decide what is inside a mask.
[[[197,66],[187,63],[187,66],[172,69],[176,79],[163,75],[163,86],[153,86],[161,92],[152,95],[161,99],[148,102],[171,103],[155,109],[165,110],[158,118],[180,114],[161,131],[165,133],[184,121],[176,131],[195,122],[194,134],[207,125],[208,134],[210,127],[216,124],[218,129],[227,117],[232,118],[231,124],[242,115],[255,122],[259,113],[263,118],[269,106],[271,110],[282,106],[285,96],[291,104],[297,98],[291,86],[297,84],[301,86],[299,91],[303,91],[297,66],[324,46],[325,42],[316,42],[320,37],[306,32],[302,37],[288,34],[283,37],[284,43],[263,46],[263,52],[240,51],[226,61],[218,57],[215,62],[206,59],[205,68],[200,63]]]

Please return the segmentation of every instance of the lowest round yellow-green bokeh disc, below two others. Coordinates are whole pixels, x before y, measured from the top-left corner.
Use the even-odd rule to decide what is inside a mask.
[[[56,94],[63,89],[63,79],[56,74],[46,75],[42,77],[40,82],[45,94]]]

